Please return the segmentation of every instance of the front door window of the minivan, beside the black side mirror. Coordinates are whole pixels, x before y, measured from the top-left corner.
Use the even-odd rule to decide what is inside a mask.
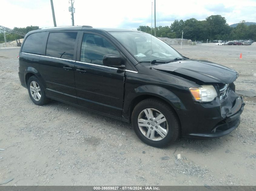
[[[81,62],[102,65],[103,56],[106,54],[120,55],[118,50],[105,38],[84,33],[80,54]]]

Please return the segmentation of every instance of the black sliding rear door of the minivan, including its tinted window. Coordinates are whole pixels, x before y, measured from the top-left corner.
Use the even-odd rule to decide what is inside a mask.
[[[78,32],[51,32],[46,54],[40,56],[40,73],[45,79],[46,95],[77,104],[75,56]]]

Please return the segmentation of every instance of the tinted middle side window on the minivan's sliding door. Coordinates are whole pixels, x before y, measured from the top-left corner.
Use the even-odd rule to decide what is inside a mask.
[[[77,33],[50,33],[46,56],[72,60]]]

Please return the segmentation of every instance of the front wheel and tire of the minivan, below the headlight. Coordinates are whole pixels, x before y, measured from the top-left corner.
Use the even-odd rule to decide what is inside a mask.
[[[175,111],[164,101],[149,98],[138,103],[132,112],[136,135],[148,145],[165,147],[180,135],[180,123]]]

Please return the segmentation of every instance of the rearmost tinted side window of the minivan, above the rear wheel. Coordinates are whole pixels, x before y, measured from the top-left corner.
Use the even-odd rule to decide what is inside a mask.
[[[45,32],[29,35],[22,46],[22,52],[41,55],[44,37]]]

